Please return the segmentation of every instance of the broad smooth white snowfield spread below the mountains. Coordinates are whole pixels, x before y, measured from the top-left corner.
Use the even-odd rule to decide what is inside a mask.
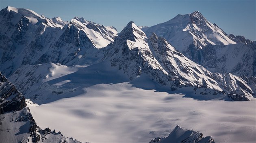
[[[167,137],[176,125],[212,136],[216,143],[256,141],[255,99],[228,102],[221,95],[204,95],[209,100],[184,89],[168,94],[128,82],[82,90],[76,97],[30,107],[37,124],[91,143],[147,143]]]

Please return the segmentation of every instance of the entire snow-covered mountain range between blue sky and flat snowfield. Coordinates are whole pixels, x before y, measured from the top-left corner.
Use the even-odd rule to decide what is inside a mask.
[[[256,42],[226,34],[198,11],[152,27],[130,21],[120,33],[82,17],[67,22],[10,6],[0,11],[0,21],[0,71],[10,81],[1,74],[1,114],[26,116],[18,125],[26,122],[26,131],[12,132],[28,142],[53,136],[77,141],[49,128],[41,130],[25,98],[41,105],[75,97],[95,84],[130,82],[165,92],[186,88],[204,96],[225,96],[226,101],[256,97]],[[145,79],[155,86],[147,87]],[[5,94],[6,88],[7,93],[13,89],[13,95]],[[9,122],[4,118],[1,123]],[[30,125],[35,128],[27,130]],[[1,141],[8,139],[13,138]]]

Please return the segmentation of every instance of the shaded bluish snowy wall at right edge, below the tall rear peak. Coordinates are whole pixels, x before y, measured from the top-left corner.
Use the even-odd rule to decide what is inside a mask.
[[[200,50],[200,65],[209,71],[236,76],[256,76],[256,42],[208,45]]]

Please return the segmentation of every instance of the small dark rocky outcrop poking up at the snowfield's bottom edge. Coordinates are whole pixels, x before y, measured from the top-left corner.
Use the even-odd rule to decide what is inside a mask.
[[[187,130],[176,126],[168,137],[155,138],[150,143],[215,143],[212,137],[203,137],[203,134],[194,130]]]

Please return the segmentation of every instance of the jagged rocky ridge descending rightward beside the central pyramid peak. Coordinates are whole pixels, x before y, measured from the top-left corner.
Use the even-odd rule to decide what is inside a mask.
[[[189,60],[164,38],[158,38],[154,33],[150,37],[150,43],[154,51],[154,57],[158,59],[162,67],[169,73],[169,80],[175,81],[171,84],[171,89],[186,85],[218,91],[224,90],[228,93],[235,92],[239,97],[255,95],[253,90],[256,86],[250,84],[247,78],[243,79],[232,74],[213,74],[201,65]],[[254,81],[252,82],[255,83]],[[245,100],[247,99],[245,98]]]

